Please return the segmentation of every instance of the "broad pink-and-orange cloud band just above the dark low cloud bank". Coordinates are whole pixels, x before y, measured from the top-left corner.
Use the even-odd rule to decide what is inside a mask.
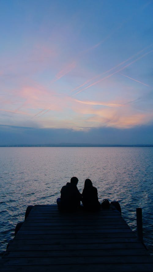
[[[2,116],[1,124],[28,126],[32,122],[36,127],[82,130],[81,127],[102,126],[130,128],[147,124],[153,118],[151,108],[144,110],[139,97],[127,100],[128,97],[124,95],[122,98],[119,93],[114,99],[106,101],[77,100],[66,94],[49,91],[43,86],[24,86],[21,90],[15,90],[15,94],[18,97],[16,102],[12,103],[13,97],[3,100],[1,104],[1,112],[8,114]],[[146,97],[146,102],[147,99],[151,101],[151,98]]]

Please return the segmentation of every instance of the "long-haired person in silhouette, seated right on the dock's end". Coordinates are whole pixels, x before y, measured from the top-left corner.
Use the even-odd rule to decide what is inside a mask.
[[[97,188],[93,187],[92,182],[89,178],[86,179],[84,182],[84,189],[82,192],[82,204],[87,211],[100,210]]]

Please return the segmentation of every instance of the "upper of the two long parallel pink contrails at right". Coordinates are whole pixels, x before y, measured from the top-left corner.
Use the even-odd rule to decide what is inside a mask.
[[[129,57],[128,59],[126,59],[125,61],[122,61],[121,63],[117,64],[116,66],[114,66],[113,68],[110,68],[109,70],[107,70],[106,72],[103,72],[102,74],[96,75],[94,77],[92,77],[91,79],[88,79],[87,81],[85,81],[83,84],[81,84],[80,86],[76,87],[75,89],[73,89],[71,92],[80,89],[81,87],[83,87],[84,85],[86,85],[88,82],[90,82],[93,79],[96,79],[98,77],[100,77],[101,75],[104,75],[110,71],[112,71],[113,69],[117,68],[118,66],[124,64],[125,62],[129,61],[130,59],[132,59],[133,57],[139,55],[141,52],[143,52],[144,50],[148,49],[149,47],[151,47],[153,45],[153,43],[147,47],[145,47],[144,49],[140,50],[139,52],[137,52],[136,54],[132,55],[131,57]]]

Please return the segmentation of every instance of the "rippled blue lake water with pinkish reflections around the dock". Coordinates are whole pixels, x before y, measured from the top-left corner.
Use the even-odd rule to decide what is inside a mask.
[[[99,201],[118,200],[122,216],[136,231],[136,208],[143,212],[144,243],[153,255],[152,147],[1,147],[0,253],[24,221],[28,205],[56,204],[70,178],[90,178]]]

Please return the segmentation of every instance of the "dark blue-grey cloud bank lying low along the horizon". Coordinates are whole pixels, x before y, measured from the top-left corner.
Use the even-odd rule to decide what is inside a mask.
[[[75,131],[72,129],[40,129],[0,125],[0,145],[39,145],[60,143],[134,145],[153,144],[153,124],[132,129],[110,127]]]

